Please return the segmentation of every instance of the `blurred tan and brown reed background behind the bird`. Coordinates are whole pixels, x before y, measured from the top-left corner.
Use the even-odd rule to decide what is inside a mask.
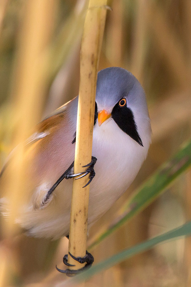
[[[0,165],[36,123],[77,96],[79,49],[87,1],[2,0],[0,2]],[[191,131],[190,0],[113,0],[108,11],[100,69],[131,71],[147,94],[152,145],[133,192],[182,143]],[[18,168],[7,183],[16,212],[22,193],[22,147]],[[191,170],[184,172],[144,211],[93,250],[95,263],[191,220]],[[1,192],[1,191],[0,191]],[[94,236],[109,226],[128,199],[124,194],[94,225]],[[0,286],[55,286],[65,280],[68,241],[14,237],[1,219]],[[11,238],[6,241],[6,238]],[[8,242],[8,243],[7,243]],[[158,245],[91,278],[86,286],[190,286],[191,240]],[[31,285],[32,284],[32,285]]]

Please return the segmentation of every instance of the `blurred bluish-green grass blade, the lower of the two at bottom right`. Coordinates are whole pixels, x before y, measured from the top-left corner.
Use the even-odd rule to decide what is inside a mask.
[[[79,283],[88,280],[91,276],[97,274],[98,272],[102,272],[114,266],[115,264],[118,264],[123,260],[132,257],[135,254],[151,249],[156,244],[164,243],[167,240],[179,239],[180,236],[188,236],[190,234],[191,234],[191,222],[188,222],[176,229],[173,229],[169,232],[156,236],[152,239],[137,244],[134,247],[125,249],[116,255],[113,255],[112,257],[100,262],[99,264],[92,266],[87,271],[77,275],[72,280],[69,280],[68,282],[66,282],[66,285],[64,286],[73,286],[74,283]]]

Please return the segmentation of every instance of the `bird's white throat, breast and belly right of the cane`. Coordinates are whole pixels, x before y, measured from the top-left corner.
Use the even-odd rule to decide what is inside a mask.
[[[150,135],[141,135],[144,147],[124,133],[113,119],[93,131],[92,155],[97,157],[90,186],[88,223],[96,221],[134,181],[150,145]]]

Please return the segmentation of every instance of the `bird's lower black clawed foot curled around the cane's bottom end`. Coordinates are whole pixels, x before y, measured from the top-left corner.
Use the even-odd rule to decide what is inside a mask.
[[[74,257],[70,252],[69,252],[69,255],[76,261],[78,261],[79,263],[83,264],[83,263],[86,263],[84,267],[80,268],[80,269],[77,269],[77,270],[72,270],[72,269],[66,269],[66,270],[62,270],[62,269],[59,269],[57,266],[56,266],[56,269],[61,272],[61,273],[65,273],[67,276],[72,276],[72,275],[75,275],[75,274],[78,274],[79,272],[87,269],[87,268],[90,268],[93,261],[94,261],[94,258],[93,256],[91,255],[91,253],[87,252],[86,250],[86,255],[84,257]],[[75,265],[72,265],[72,264],[69,264],[68,263],[68,255],[64,255],[63,257],[63,263],[67,266],[75,266]]]

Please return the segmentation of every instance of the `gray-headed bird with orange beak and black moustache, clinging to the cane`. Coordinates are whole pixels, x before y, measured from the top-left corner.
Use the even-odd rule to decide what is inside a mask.
[[[24,143],[22,190],[28,190],[28,201],[21,203],[15,223],[30,236],[56,240],[69,234],[72,180],[65,179],[74,176],[77,106],[78,96],[42,120]],[[147,157],[151,133],[145,92],[137,78],[120,67],[99,71],[92,162],[85,174],[78,174],[89,174],[88,229],[134,181]],[[1,192],[13,156],[1,170]],[[4,197],[0,209],[8,215]]]

